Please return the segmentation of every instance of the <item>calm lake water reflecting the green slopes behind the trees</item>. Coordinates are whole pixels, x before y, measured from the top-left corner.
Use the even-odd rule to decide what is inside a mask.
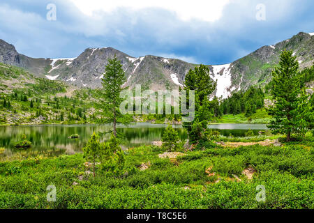
[[[119,125],[117,131],[122,136],[121,146],[130,148],[140,145],[149,145],[151,141],[161,139],[167,128],[164,124],[136,123],[125,127]],[[181,139],[187,138],[186,130],[181,125],[174,125]],[[220,131],[228,136],[242,137],[251,129],[255,134],[259,130],[265,130],[266,125],[250,124],[219,124],[209,125],[209,128]],[[54,151],[62,149],[66,154],[82,151],[93,132],[100,134],[101,141],[110,138],[111,125],[24,125],[24,126],[1,126],[0,147],[6,148],[6,153],[15,153],[14,144],[20,141],[22,134],[27,134],[27,139],[32,142],[31,151]],[[68,139],[71,134],[79,134],[78,139]]]

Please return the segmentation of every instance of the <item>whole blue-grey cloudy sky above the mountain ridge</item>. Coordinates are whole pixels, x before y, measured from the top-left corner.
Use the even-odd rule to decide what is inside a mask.
[[[223,64],[314,32],[313,8],[313,0],[1,0],[0,39],[32,57],[114,47],[135,57]]]

